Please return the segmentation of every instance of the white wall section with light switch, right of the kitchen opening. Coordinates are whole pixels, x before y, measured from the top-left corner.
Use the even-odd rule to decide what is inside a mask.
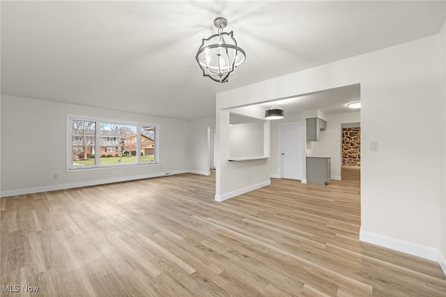
[[[437,38],[372,53],[374,71],[361,80],[362,147],[378,141],[379,149],[361,152],[362,239],[430,259],[436,257],[429,248],[439,248],[438,135],[444,130]],[[387,133],[389,127],[398,133]]]

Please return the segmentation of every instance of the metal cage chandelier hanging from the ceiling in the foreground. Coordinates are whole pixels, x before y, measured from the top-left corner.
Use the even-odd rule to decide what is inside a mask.
[[[227,82],[229,75],[246,59],[245,51],[238,47],[232,31],[223,32],[227,24],[228,21],[224,17],[217,17],[214,25],[218,33],[209,38],[203,38],[195,56],[198,65],[203,70],[203,76],[208,76],[215,82]]]

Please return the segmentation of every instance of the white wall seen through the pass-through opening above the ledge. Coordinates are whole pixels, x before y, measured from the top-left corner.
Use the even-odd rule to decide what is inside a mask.
[[[263,155],[263,123],[240,123],[229,127],[231,158]]]

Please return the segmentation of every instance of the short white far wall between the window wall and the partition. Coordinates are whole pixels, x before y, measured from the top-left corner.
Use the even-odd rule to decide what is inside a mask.
[[[208,128],[215,130],[215,117],[189,122],[189,169],[196,174],[210,174]]]

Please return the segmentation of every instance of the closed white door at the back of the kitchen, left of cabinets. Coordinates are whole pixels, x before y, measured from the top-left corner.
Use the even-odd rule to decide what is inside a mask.
[[[282,178],[302,179],[302,126],[300,123],[280,125],[280,148]]]

